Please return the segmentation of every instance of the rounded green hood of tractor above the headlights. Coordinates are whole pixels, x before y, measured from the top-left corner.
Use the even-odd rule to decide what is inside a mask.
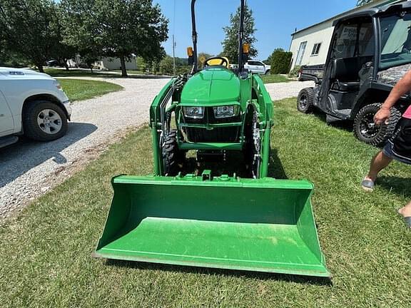
[[[240,80],[226,68],[207,68],[188,79],[181,93],[182,106],[221,105],[240,101]]]

